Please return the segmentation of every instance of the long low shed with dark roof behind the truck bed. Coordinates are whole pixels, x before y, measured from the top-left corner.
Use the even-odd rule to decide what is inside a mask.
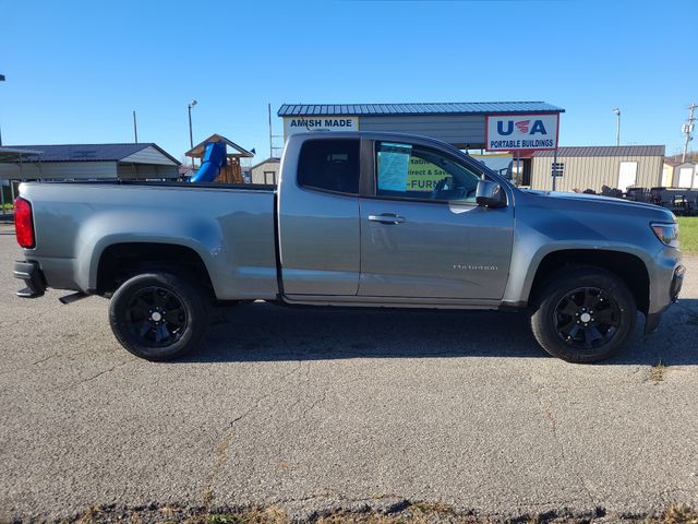
[[[0,162],[0,179],[93,180],[177,178],[180,165],[154,143],[9,145],[22,162]]]

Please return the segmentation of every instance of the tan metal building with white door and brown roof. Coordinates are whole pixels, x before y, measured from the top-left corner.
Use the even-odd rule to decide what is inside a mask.
[[[553,151],[533,154],[532,189],[552,189]],[[663,145],[621,145],[559,147],[555,190],[601,192],[606,186],[626,191],[629,187],[654,188],[662,184]]]

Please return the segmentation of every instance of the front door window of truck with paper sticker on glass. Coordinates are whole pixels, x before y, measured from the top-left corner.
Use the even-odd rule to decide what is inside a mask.
[[[376,144],[376,195],[476,202],[480,177],[442,153],[412,144]]]

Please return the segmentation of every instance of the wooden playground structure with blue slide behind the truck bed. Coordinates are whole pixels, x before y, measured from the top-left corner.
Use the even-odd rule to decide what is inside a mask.
[[[243,183],[240,158],[252,158],[254,153],[220,134],[212,134],[185,155],[198,158],[201,164],[192,182]]]

